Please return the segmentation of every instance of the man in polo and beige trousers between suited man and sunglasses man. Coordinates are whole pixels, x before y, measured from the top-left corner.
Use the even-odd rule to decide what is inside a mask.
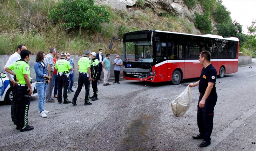
[[[110,54],[107,53],[106,58],[101,62],[101,65],[103,67],[103,72],[104,72],[104,80],[103,80],[103,85],[108,86],[111,85],[108,83],[108,79],[110,76],[110,62],[109,62]]]

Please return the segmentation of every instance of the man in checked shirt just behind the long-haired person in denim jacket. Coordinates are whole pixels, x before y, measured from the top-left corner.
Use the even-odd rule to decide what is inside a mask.
[[[46,103],[53,103],[55,102],[54,99],[52,99],[52,92],[53,92],[53,65],[54,65],[54,62],[53,62],[53,56],[55,55],[56,53],[56,48],[52,47],[50,48],[50,52],[49,54],[47,54],[45,56],[45,64],[46,64],[46,67],[47,67],[47,73],[49,75],[49,78],[50,78],[50,82],[48,83],[47,85],[47,89],[46,89]]]

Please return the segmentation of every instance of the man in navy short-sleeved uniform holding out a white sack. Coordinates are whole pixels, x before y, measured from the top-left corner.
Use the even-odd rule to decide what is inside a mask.
[[[206,147],[211,144],[211,132],[213,131],[214,106],[217,102],[217,93],[215,88],[217,71],[211,65],[211,54],[209,51],[200,53],[199,61],[203,66],[200,79],[196,83],[190,83],[189,86],[198,86],[200,92],[197,105],[197,126],[199,133],[192,136],[194,139],[203,139],[200,147]]]

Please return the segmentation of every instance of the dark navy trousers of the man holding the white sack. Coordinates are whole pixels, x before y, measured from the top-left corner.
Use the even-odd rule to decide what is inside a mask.
[[[197,126],[199,128],[199,133],[203,135],[205,141],[210,140],[211,132],[213,131],[213,116],[214,107],[217,102],[217,93],[208,96],[206,103],[203,108],[199,107],[199,102],[201,101],[203,94],[200,94],[198,104],[197,104]]]

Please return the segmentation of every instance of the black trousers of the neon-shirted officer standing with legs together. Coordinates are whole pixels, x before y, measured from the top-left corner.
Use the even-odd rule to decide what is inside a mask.
[[[68,101],[68,86],[69,86],[68,77],[64,74],[62,74],[62,76],[60,76],[58,74],[57,80],[58,80],[58,101],[62,102],[62,87],[63,87],[63,100],[64,100],[64,102],[67,102]]]

